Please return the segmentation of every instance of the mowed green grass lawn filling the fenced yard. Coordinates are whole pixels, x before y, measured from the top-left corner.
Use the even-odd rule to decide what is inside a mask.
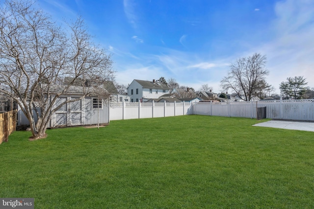
[[[265,121],[265,120],[264,120]],[[36,209],[314,207],[314,133],[176,116],[47,130],[0,145],[0,197]]]

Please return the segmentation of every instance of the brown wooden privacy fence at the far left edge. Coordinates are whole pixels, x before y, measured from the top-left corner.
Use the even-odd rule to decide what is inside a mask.
[[[9,135],[16,130],[16,110],[0,114],[0,144],[8,141]]]

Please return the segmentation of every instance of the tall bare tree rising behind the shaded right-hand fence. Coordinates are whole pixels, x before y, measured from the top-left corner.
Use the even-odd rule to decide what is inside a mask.
[[[224,90],[232,89],[239,97],[250,101],[254,93],[260,88],[259,82],[265,81],[269,71],[265,67],[266,56],[255,53],[246,58],[239,58],[230,65],[228,75],[221,80]]]

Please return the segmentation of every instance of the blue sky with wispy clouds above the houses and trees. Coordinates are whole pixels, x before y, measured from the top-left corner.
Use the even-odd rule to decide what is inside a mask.
[[[175,78],[221,92],[239,57],[261,53],[267,82],[287,77],[314,87],[314,0],[38,0],[53,19],[82,16],[113,56],[116,81]]]

